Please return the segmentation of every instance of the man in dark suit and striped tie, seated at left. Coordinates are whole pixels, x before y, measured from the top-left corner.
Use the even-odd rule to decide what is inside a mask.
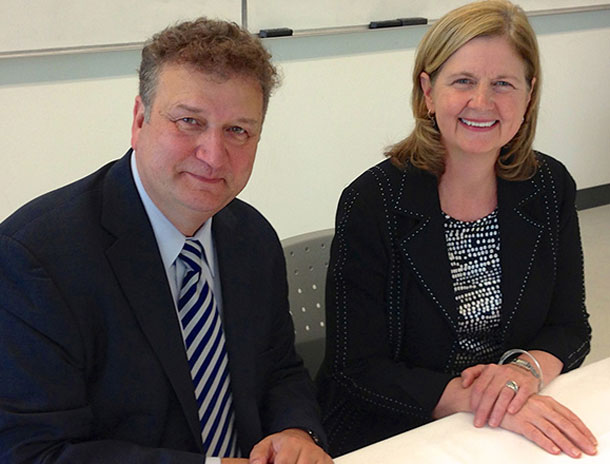
[[[132,149],[0,225],[1,462],[331,462],[279,241],[235,199],[276,80],[234,24],[162,31]]]

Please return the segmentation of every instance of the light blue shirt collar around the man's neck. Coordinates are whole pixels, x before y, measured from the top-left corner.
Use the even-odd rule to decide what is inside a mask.
[[[161,254],[161,260],[163,266],[167,271],[176,261],[176,258],[182,251],[184,241],[186,237],[171,223],[167,217],[161,212],[161,210],[154,204],[148,193],[144,189],[142,180],[140,179],[140,173],[136,165],[136,152],[131,155],[131,172],[133,174],[133,180],[136,184],[140,199],[144,204],[144,209],[148,215],[148,219],[153,228],[155,238],[157,240],[157,246]],[[208,219],[203,226],[197,230],[193,238],[199,240],[205,251],[206,258],[208,260],[208,266],[212,272],[212,276],[216,275],[214,244],[212,241],[212,219]]]

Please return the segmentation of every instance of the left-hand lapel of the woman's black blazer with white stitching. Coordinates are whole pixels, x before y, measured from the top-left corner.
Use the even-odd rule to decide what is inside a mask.
[[[411,168],[403,173],[394,207],[398,215],[399,247],[422,289],[442,312],[452,330],[457,305],[445,243],[437,180]]]

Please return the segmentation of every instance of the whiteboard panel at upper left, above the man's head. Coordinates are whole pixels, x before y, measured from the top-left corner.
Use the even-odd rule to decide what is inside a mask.
[[[0,0],[0,52],[138,43],[199,16],[241,23],[241,0]]]

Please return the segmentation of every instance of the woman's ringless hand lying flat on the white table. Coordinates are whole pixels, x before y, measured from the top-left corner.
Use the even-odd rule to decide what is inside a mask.
[[[597,440],[587,426],[549,396],[533,395],[516,414],[506,414],[500,426],[519,433],[551,454],[573,458],[597,453]]]

